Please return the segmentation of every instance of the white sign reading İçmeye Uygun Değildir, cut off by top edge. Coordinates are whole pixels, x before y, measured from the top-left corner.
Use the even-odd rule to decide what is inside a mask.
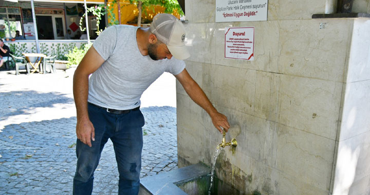
[[[216,0],[217,22],[267,21],[268,0]]]

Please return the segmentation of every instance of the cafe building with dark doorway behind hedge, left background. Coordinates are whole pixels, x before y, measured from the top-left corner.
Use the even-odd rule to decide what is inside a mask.
[[[21,36],[17,36],[16,40],[35,40],[36,34],[38,34],[39,40],[79,40],[84,33],[81,28],[86,27],[85,18],[82,19],[80,25],[80,19],[85,13],[85,3],[87,7],[94,7],[104,4],[104,0],[86,2],[68,0],[1,1],[0,37],[11,41],[12,38],[16,37],[16,31],[19,31]],[[95,32],[97,30],[97,16],[88,13],[87,23],[89,36],[91,39],[95,39],[97,37]],[[99,27],[104,29],[105,26],[106,19],[103,17]],[[68,34],[68,30],[70,34]]]

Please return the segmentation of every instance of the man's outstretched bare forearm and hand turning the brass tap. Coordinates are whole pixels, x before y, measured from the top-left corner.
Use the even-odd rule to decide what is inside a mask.
[[[193,80],[188,71],[184,69],[180,74],[175,75],[176,79],[181,83],[182,87],[188,93],[190,98],[200,107],[206,110],[211,116],[213,125],[222,133],[223,127],[226,131],[230,128],[229,122],[224,114],[219,113],[209,101],[207,95]]]

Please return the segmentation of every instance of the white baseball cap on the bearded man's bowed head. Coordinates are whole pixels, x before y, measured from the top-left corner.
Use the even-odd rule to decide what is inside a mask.
[[[190,57],[185,47],[185,27],[174,15],[168,13],[157,14],[150,26],[153,34],[159,41],[167,45],[171,54],[178,60]]]

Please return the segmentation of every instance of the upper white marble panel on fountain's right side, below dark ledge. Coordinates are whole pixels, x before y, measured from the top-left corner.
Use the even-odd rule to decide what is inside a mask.
[[[370,80],[370,19],[354,20],[347,83]]]

